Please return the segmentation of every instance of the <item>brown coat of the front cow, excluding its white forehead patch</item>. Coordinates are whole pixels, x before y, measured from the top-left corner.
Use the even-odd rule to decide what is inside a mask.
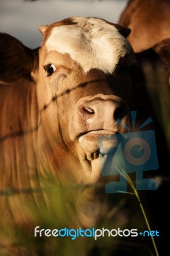
[[[89,148],[86,152],[88,143],[82,147],[79,137],[85,134],[84,141],[93,146],[98,134],[90,134],[89,140],[86,134],[91,131],[123,132],[116,118],[128,122],[132,83],[128,69],[136,63],[135,56],[123,49],[125,58],[119,61],[115,74],[97,68],[84,73],[69,54],[47,52],[46,38],[54,26],[62,24],[72,21],[43,26],[45,40],[35,50],[13,36],[0,34],[0,255],[56,254],[49,253],[43,240],[43,248],[38,248],[33,237],[36,225],[46,225],[43,214],[50,216],[50,225],[56,228],[92,227],[108,210],[103,207],[105,178],[99,153],[89,152]],[[44,68],[49,64],[56,66],[51,76]],[[81,109],[85,102],[93,102],[97,108],[100,104],[102,111],[106,102],[112,112],[103,111],[104,119],[98,111],[100,118],[88,122],[93,116],[89,108]],[[95,186],[100,180],[103,193],[98,200]],[[27,246],[30,237],[35,248]]]

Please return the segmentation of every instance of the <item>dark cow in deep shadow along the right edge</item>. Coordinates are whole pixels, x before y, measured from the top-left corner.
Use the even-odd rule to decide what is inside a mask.
[[[155,174],[152,172],[152,175],[156,176],[155,179],[158,180],[158,190],[157,193],[148,192],[147,210],[150,212],[152,227],[157,227],[162,236],[167,237],[169,214],[166,212],[169,212],[167,195],[170,180],[166,167],[170,164],[170,38],[158,42],[150,49],[135,53],[135,56],[139,68],[133,76],[135,86],[132,93],[131,109],[138,110],[139,124],[141,124],[141,120],[147,118],[147,115],[153,118],[159,164],[157,172]],[[157,246],[160,255],[166,254],[168,250],[166,239],[161,243],[158,242]]]

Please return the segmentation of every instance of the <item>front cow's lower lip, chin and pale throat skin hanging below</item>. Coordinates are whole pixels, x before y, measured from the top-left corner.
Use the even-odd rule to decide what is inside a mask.
[[[79,160],[84,171],[82,182],[85,184],[105,184],[102,176],[102,166],[110,154],[114,153],[117,140],[114,139],[116,132],[109,130],[89,131],[79,136]],[[99,182],[99,183],[98,183]]]

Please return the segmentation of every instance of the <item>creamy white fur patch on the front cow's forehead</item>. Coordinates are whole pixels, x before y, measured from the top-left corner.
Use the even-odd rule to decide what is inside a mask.
[[[52,29],[47,40],[47,51],[68,53],[81,65],[84,72],[98,68],[114,72],[121,57],[132,47],[115,26],[101,19],[77,17],[77,24]]]

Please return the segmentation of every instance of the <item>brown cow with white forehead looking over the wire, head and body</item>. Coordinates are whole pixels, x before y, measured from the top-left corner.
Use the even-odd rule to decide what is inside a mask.
[[[115,143],[106,141],[100,151],[98,138],[123,133],[129,124],[137,65],[130,29],[72,17],[39,30],[38,49],[0,34],[1,255],[45,255],[22,237],[33,237],[43,212],[57,218],[52,201],[62,203],[59,218],[69,216],[70,205],[60,208],[73,195],[74,225],[95,225],[100,161]],[[50,189],[60,187],[63,197],[53,198]]]

